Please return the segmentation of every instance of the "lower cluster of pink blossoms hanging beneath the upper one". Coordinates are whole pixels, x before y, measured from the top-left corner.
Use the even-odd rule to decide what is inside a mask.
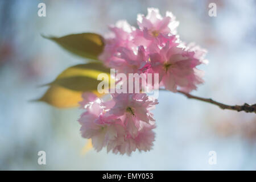
[[[130,155],[137,149],[151,149],[155,119],[150,110],[157,100],[145,93],[112,94],[105,101],[91,93],[84,93],[83,97],[86,99],[80,105],[85,111],[79,118],[80,131],[82,137],[92,139],[96,151],[106,147],[108,152]]]

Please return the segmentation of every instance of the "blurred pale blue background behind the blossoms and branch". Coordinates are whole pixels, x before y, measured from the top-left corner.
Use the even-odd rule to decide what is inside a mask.
[[[46,3],[46,17],[38,4]],[[209,3],[217,16],[208,15]],[[81,138],[81,110],[56,109],[39,98],[61,71],[85,60],[40,34],[104,34],[119,19],[136,26],[138,13],[157,7],[180,22],[181,40],[208,49],[205,84],[192,92],[225,104],[256,102],[256,2],[248,1],[0,1],[0,169],[172,170],[256,169],[256,115],[163,92],[153,111],[154,148],[131,156],[90,150]],[[38,151],[47,164],[38,165]],[[217,164],[209,165],[209,151]]]

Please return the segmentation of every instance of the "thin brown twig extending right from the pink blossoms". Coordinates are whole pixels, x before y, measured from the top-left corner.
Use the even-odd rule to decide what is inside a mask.
[[[164,90],[164,89],[160,89],[160,90]],[[203,102],[208,102],[210,104],[217,105],[221,109],[236,110],[238,112],[239,111],[245,111],[246,113],[256,113],[256,104],[249,105],[249,104],[245,103],[243,105],[230,106],[230,105],[222,104],[222,103],[217,102],[217,101],[213,101],[211,98],[202,98],[202,97],[193,96],[193,95],[191,95],[189,93],[182,92],[180,90],[178,90],[177,92],[180,93],[180,94],[183,94],[187,98],[191,98],[191,99],[195,99],[195,100],[199,100],[199,101],[203,101]]]

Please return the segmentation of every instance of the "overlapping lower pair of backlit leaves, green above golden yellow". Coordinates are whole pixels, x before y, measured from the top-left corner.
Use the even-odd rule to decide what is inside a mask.
[[[37,101],[65,108],[78,106],[83,92],[93,92],[101,96],[97,92],[98,83],[101,82],[97,80],[100,73],[106,73],[110,78],[110,69],[104,67],[102,63],[79,64],[67,68],[53,82],[46,84],[50,86],[49,89]]]

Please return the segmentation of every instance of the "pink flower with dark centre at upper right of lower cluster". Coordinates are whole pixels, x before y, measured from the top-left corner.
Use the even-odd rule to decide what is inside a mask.
[[[113,94],[115,105],[110,109],[110,113],[120,117],[127,127],[127,131],[132,137],[137,135],[139,122],[152,123],[155,121],[150,113],[157,100],[150,99],[144,93],[134,94]],[[151,122],[150,122],[151,121]]]

